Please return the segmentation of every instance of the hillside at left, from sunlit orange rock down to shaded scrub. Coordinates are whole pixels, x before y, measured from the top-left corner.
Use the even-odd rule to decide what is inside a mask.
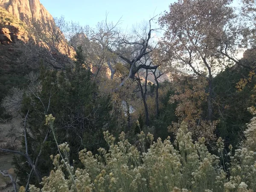
[[[70,57],[73,56],[73,49],[66,41],[62,41],[61,50],[53,54],[49,47],[42,46],[43,43],[36,39],[36,35],[29,32],[29,21],[25,18],[41,18],[42,22],[47,22],[43,21],[47,19],[53,21],[53,18],[40,3],[27,10],[26,2],[29,1],[0,0],[0,102],[10,88],[26,86],[25,76],[31,71],[38,71],[41,64],[47,68],[64,69],[66,64],[72,63]],[[13,12],[10,12],[11,9]],[[47,31],[40,32],[44,34]],[[4,118],[3,111],[0,107],[0,119]]]

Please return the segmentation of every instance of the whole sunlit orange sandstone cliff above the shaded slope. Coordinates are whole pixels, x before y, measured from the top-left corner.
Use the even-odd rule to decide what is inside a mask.
[[[35,25],[37,28],[34,27]],[[34,32],[30,30],[33,28],[35,28]],[[50,41],[49,37],[52,34],[58,34],[58,45],[56,42],[45,42],[47,38]],[[38,38],[42,36],[45,41]],[[55,26],[52,15],[39,0],[0,0],[0,44],[12,44],[17,40],[26,42],[29,39],[40,46],[43,45],[53,55],[56,55],[56,47],[60,54],[70,58],[75,53],[74,49],[68,46],[60,29]]]

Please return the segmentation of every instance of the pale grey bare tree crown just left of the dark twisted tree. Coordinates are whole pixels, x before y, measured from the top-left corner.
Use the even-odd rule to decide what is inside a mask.
[[[113,49],[113,41],[116,35],[119,33],[118,25],[120,20],[115,24],[107,22],[106,20],[99,22],[96,28],[86,26],[82,27],[71,27],[78,29],[74,33],[73,37],[70,38],[70,43],[75,47],[82,47],[85,56],[85,63],[87,68],[90,68],[94,73],[94,79],[97,78],[98,74],[102,71],[102,67],[109,68],[111,71],[111,79],[113,79],[115,68],[116,55],[110,50]]]

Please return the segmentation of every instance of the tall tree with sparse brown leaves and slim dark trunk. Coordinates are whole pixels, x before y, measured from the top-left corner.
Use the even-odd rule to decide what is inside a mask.
[[[230,0],[178,0],[169,6],[169,12],[160,17],[160,25],[166,27],[163,50],[179,67],[205,76],[208,81],[208,119],[212,120],[212,78],[222,66],[218,54],[218,41],[222,31],[233,19]],[[219,62],[220,61],[220,62]],[[206,74],[205,74],[206,73]]]

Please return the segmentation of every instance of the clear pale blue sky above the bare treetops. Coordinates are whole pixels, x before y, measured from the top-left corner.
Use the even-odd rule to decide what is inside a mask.
[[[149,20],[169,9],[174,0],[40,0],[53,17],[64,15],[65,19],[81,25],[95,26],[105,20],[115,23],[122,17],[123,29]]]

